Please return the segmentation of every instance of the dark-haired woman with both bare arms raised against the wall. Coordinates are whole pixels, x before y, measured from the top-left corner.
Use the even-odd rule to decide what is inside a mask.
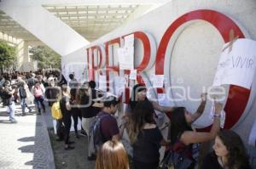
[[[172,111],[170,131],[172,150],[176,151],[177,153],[183,152],[183,154],[192,161],[191,165],[188,167],[189,169],[194,168],[196,165],[197,157],[195,157],[192,152],[193,144],[211,141],[213,138],[215,138],[220,129],[219,118],[223,105],[214,102],[215,112],[211,131],[193,131],[191,124],[202,115],[207,101],[207,95],[202,94],[201,99],[203,104],[199,106],[194,114],[189,113],[189,111],[184,107],[177,107]]]

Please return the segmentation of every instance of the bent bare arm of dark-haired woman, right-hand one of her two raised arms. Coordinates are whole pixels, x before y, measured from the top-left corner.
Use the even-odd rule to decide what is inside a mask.
[[[220,112],[223,109],[223,105],[220,103],[215,103],[215,114],[213,115],[213,124],[210,132],[183,132],[181,136],[181,141],[188,144],[203,143],[212,140],[216,137],[220,127],[219,118]]]

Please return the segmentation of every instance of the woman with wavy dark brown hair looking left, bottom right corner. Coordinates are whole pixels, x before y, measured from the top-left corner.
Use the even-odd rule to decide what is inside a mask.
[[[212,148],[201,169],[252,169],[249,156],[240,136],[231,130],[218,132]]]

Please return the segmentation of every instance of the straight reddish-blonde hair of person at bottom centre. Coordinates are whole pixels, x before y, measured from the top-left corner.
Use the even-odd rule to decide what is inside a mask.
[[[95,169],[129,169],[128,156],[123,144],[109,140],[103,144],[96,159]]]

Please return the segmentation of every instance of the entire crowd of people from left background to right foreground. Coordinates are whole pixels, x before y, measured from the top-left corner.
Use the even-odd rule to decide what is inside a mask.
[[[19,78],[17,78],[19,79]],[[24,79],[24,78],[23,78]],[[22,112],[25,113],[26,94],[21,94],[22,88],[33,93],[38,114],[45,111],[44,95],[49,106],[60,103],[61,118],[56,119],[57,136],[59,141],[64,140],[64,149],[74,149],[69,140],[69,132],[74,121],[76,137],[79,138],[78,120],[82,121],[81,132],[87,135],[88,160],[96,160],[96,169],[157,169],[157,168],[223,168],[223,169],[250,169],[249,157],[244,144],[236,132],[220,130],[220,112],[223,105],[215,102],[212,129],[210,132],[196,132],[191,124],[204,112],[207,103],[207,94],[201,94],[201,104],[195,113],[190,113],[184,107],[166,107],[147,98],[147,88],[137,84],[132,88],[131,99],[122,115],[121,125],[115,116],[120,101],[115,96],[106,96],[96,89],[96,82],[79,84],[73,74],[69,75],[68,82],[57,82],[55,76],[35,76],[31,74],[26,81],[19,81],[18,96]],[[46,85],[47,83],[47,85]],[[14,96],[9,80],[3,82],[3,91]],[[24,96],[24,97],[23,97]],[[18,98],[19,98],[18,97]],[[4,97],[3,97],[4,98]],[[14,122],[14,99],[3,99],[4,105],[9,107],[10,121]],[[5,103],[6,102],[6,103]],[[31,108],[29,108],[29,111]],[[155,120],[155,110],[171,114],[171,127],[168,137],[162,136],[160,127]],[[98,126],[97,126],[98,125]],[[96,131],[96,130],[99,131]],[[121,143],[123,133],[127,132],[132,154],[127,155]],[[99,135],[101,137],[99,137]],[[100,142],[98,139],[101,139]],[[202,165],[198,165],[200,144],[214,140],[213,151],[202,158]],[[96,149],[99,146],[99,149]],[[166,153],[160,161],[160,147],[166,146]],[[177,158],[175,157],[177,156]],[[129,162],[129,158],[132,160]],[[180,159],[183,159],[182,161]],[[84,166],[86,167],[86,166]]]

